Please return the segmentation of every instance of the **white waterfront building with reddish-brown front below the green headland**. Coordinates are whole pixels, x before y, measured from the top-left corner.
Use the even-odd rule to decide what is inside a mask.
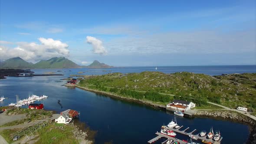
[[[174,100],[166,105],[167,108],[172,108],[174,110],[187,111],[191,108],[194,108],[196,104],[191,101],[182,101],[182,100]]]

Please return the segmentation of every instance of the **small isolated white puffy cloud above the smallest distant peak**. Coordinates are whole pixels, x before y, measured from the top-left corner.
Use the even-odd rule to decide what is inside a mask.
[[[92,36],[86,36],[86,42],[92,44],[93,52],[99,55],[106,55],[108,52],[104,46],[102,46],[102,41],[96,39]]]

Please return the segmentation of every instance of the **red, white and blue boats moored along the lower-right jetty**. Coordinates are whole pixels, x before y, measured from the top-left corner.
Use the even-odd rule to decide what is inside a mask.
[[[166,127],[166,126],[162,126],[162,127],[161,127],[161,133],[162,133],[162,134],[165,134],[165,135],[168,135],[168,136],[171,136],[171,137],[175,137],[175,136],[176,136],[176,133],[175,133],[174,131],[172,131],[171,129],[169,129],[169,128],[178,129],[178,128],[180,128],[180,127],[181,127],[181,126],[179,126],[179,125],[177,124],[176,118],[174,117],[174,120],[172,120],[172,121],[167,125],[167,127]],[[206,134],[207,134],[206,131],[201,131],[199,135],[200,135],[200,137],[205,137]],[[191,138],[193,138],[194,140],[198,140],[197,137],[195,137],[194,135],[189,135],[189,137],[190,137],[190,141],[189,141],[189,142],[183,140],[184,142],[187,142],[186,144],[198,144],[198,143],[193,142],[192,139],[191,139]],[[219,141],[219,140],[220,140],[220,131],[219,131],[219,132],[216,132],[216,133],[214,134],[213,128],[210,128],[210,132],[207,134],[207,137],[208,137],[208,139],[213,138],[213,140]],[[166,144],[168,144],[169,142],[171,143],[171,140],[167,141]],[[206,144],[212,144],[211,141],[202,140],[202,142],[203,142],[203,143],[206,143]],[[179,144],[179,142],[176,142],[176,143],[174,142],[174,144]]]

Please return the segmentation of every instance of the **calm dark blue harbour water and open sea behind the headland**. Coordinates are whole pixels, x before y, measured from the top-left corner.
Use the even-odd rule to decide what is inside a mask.
[[[56,72],[62,70],[62,72]],[[75,109],[80,111],[80,121],[85,122],[96,130],[96,144],[113,141],[114,144],[146,144],[154,133],[160,131],[161,125],[167,124],[174,118],[174,115],[165,111],[151,108],[146,105],[136,104],[133,102],[121,101],[109,98],[104,95],[98,95],[87,92],[79,88],[67,88],[62,85],[63,82],[56,80],[66,78],[70,74],[77,74],[80,71],[88,71],[85,74],[104,74],[104,69],[35,69],[36,73],[56,72],[64,76],[35,76],[35,77],[8,77],[0,80],[0,93],[8,97],[0,106],[8,105],[16,101],[15,95],[20,98],[26,98],[29,94],[48,95],[49,98],[41,101],[45,109],[54,111],[64,111],[66,109]],[[112,72],[142,72],[155,71],[154,67],[126,67],[108,69]],[[165,73],[188,71],[194,73],[205,73],[207,75],[220,75],[222,73],[243,73],[256,72],[255,65],[246,66],[175,66],[175,67],[158,67],[158,71]],[[60,100],[63,108],[57,104]],[[179,118],[179,125],[185,128],[190,127],[188,131],[197,129],[210,130],[213,126],[214,131],[220,130],[223,141],[222,144],[242,144],[246,142],[249,136],[247,125],[220,121],[211,118]],[[234,137],[236,137],[234,139]],[[177,134],[177,138],[187,140],[188,137]],[[235,140],[235,141],[233,141]],[[158,143],[164,141],[161,139]]]

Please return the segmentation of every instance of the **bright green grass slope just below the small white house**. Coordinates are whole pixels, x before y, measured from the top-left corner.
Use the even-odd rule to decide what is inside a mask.
[[[79,144],[75,139],[70,125],[62,125],[63,130],[59,129],[56,124],[50,124],[39,132],[40,139],[36,144]]]

